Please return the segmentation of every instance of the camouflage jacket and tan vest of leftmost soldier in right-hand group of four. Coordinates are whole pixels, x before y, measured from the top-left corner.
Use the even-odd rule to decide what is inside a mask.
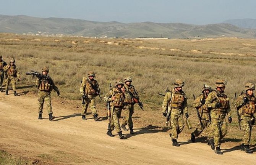
[[[168,112],[168,109],[172,108],[182,109],[183,112],[188,113],[187,97],[183,91],[173,89],[165,93],[162,112]]]

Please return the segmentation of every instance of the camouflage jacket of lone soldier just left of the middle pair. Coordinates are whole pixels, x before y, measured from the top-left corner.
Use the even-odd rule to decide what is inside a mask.
[[[94,87],[97,89],[97,91],[94,90],[94,88],[92,88],[92,85],[89,82],[91,82],[92,85],[94,85]],[[97,93],[99,93],[99,92],[100,92],[100,87],[99,87],[99,84],[98,84],[98,82],[96,80],[94,80],[94,79],[90,80],[87,77],[83,78],[82,83],[80,85],[80,93],[82,95],[86,95],[86,96],[94,95],[94,96],[97,96],[98,95]]]

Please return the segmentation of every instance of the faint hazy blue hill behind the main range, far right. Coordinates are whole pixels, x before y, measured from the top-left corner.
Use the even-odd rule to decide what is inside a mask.
[[[232,24],[246,29],[256,29],[256,19],[229,19],[223,23]]]

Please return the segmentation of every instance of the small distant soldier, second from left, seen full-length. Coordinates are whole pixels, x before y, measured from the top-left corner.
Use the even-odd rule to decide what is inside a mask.
[[[14,96],[17,96],[18,93],[16,93],[16,78],[18,78],[18,81],[21,80],[21,78],[19,77],[19,70],[15,65],[15,60],[12,58],[10,60],[10,64],[6,65],[3,70],[6,73],[6,93],[5,95],[8,95],[8,90],[9,90],[9,84],[11,82],[11,84],[13,85],[13,94]]]

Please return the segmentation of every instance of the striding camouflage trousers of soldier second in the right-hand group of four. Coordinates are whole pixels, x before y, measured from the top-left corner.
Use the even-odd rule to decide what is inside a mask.
[[[198,126],[196,127],[196,130],[194,130],[194,135],[196,137],[198,137],[203,132],[203,130],[206,129],[206,135],[208,137],[209,134],[212,133],[211,127],[210,127],[211,122],[209,121],[209,114],[208,113],[203,113],[202,114],[201,122],[202,122],[202,125],[199,122]]]

